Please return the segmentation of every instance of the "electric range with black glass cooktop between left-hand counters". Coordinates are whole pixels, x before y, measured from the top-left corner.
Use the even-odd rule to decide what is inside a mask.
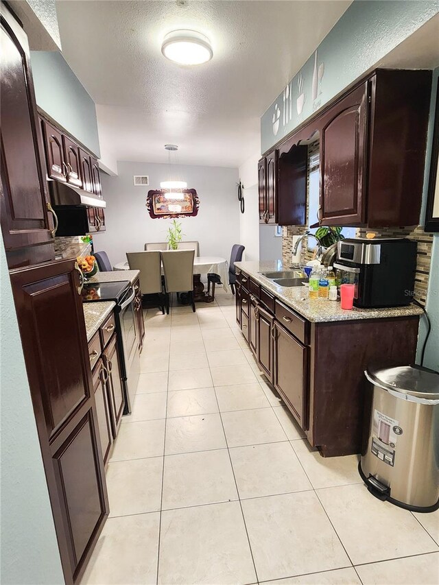
[[[125,398],[123,414],[129,414],[134,401],[140,373],[139,340],[137,339],[134,298],[136,291],[128,280],[110,283],[86,283],[82,301],[112,300],[116,303],[115,322],[120,359],[120,376]]]

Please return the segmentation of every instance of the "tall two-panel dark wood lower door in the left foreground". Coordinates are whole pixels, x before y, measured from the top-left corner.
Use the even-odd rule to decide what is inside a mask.
[[[73,260],[10,272],[38,438],[67,584],[108,516],[98,411]]]

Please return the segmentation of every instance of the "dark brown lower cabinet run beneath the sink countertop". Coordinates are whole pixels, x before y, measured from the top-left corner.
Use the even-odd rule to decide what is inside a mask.
[[[241,287],[236,308],[261,372],[322,455],[359,453],[364,370],[370,363],[384,368],[412,363],[418,316],[311,323],[257,289],[252,278],[240,271],[239,280],[254,294],[250,311],[244,310],[248,293]]]

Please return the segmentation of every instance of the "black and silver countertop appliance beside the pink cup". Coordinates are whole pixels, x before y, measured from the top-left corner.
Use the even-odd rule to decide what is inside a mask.
[[[354,306],[403,307],[414,298],[415,241],[348,238],[337,243],[337,282],[355,285]]]

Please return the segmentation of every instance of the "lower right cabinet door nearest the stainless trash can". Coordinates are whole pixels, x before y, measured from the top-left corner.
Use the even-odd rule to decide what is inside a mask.
[[[274,386],[304,431],[307,430],[307,351],[274,321]]]

